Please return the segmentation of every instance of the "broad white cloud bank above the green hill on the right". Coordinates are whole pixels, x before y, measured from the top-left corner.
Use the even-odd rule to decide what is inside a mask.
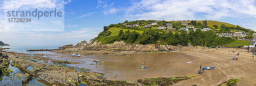
[[[141,0],[125,9],[125,18],[155,20],[256,17],[254,0]],[[197,17],[199,15],[200,17]]]

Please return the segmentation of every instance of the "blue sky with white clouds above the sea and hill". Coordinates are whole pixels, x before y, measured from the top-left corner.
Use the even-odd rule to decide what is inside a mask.
[[[61,11],[61,17],[8,17],[8,11]],[[9,22],[31,18],[31,22]],[[256,0],[0,0],[0,41],[75,45],[125,20],[215,20],[256,31]]]

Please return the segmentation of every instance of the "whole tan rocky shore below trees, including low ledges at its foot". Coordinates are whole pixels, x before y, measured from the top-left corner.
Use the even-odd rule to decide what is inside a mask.
[[[187,46],[173,46],[161,44],[126,44],[123,41],[114,42],[113,44],[101,45],[101,42],[90,40],[89,43],[82,41],[75,46],[72,44],[52,50],[55,53],[79,53],[81,55],[130,55],[133,53],[149,53],[149,52],[170,52],[177,50],[189,50],[195,47],[191,44]]]

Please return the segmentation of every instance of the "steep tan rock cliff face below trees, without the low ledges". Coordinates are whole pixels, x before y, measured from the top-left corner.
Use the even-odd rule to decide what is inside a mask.
[[[191,44],[188,46],[173,46],[173,45],[161,45],[161,44],[126,44],[123,41],[114,42],[113,44],[100,45],[101,42],[92,42],[92,40],[87,43],[82,41],[76,44],[76,46],[64,49],[67,52],[81,51],[81,50],[114,50],[114,51],[174,51],[174,50],[188,50],[190,48],[195,48]]]

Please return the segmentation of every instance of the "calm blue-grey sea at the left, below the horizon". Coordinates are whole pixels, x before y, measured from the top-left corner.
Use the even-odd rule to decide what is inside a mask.
[[[0,46],[3,48],[10,48],[5,51],[15,51],[18,53],[48,53],[46,51],[38,51],[38,52],[29,52],[26,50],[31,50],[31,49],[57,49],[61,45],[11,45],[11,46]]]

